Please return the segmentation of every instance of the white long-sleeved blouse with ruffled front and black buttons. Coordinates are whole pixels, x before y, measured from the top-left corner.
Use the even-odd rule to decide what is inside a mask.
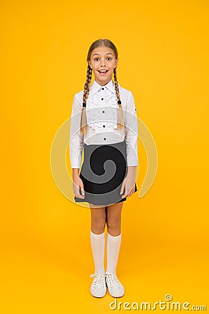
[[[95,80],[90,87],[86,101],[86,135],[80,133],[80,119],[82,113],[83,93],[79,91],[74,96],[70,121],[70,164],[72,168],[80,168],[84,143],[114,144],[126,141],[127,166],[138,165],[137,154],[137,112],[131,91],[119,87],[125,133],[123,128],[117,128],[118,103],[115,84],[110,80],[100,86]]]

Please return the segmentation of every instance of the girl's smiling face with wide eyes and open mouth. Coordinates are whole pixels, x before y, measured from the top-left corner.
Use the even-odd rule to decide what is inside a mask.
[[[100,85],[106,85],[114,73],[118,59],[114,50],[109,47],[98,47],[91,52],[91,60],[88,62],[95,75],[95,81]]]

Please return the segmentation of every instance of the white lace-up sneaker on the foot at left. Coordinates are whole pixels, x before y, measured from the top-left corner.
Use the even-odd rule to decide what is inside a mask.
[[[94,277],[93,282],[91,283],[91,294],[93,297],[104,297],[107,292],[104,274],[91,274],[90,277]]]

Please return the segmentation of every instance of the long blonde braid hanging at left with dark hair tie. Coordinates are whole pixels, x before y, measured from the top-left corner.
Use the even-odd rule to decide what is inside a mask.
[[[91,66],[87,67],[87,73],[86,73],[86,82],[84,85],[84,95],[83,95],[83,107],[82,107],[82,115],[81,115],[81,122],[80,122],[80,131],[82,135],[86,134],[86,124],[87,124],[87,119],[86,119],[86,101],[88,98],[89,94],[89,87],[91,84],[91,75],[92,75],[92,68]]]

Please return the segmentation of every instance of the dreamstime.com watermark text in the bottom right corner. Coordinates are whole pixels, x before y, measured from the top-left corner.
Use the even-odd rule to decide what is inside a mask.
[[[118,299],[115,299],[113,302],[109,304],[109,308],[114,311],[118,310],[121,311],[122,309],[126,311],[155,311],[155,310],[162,310],[162,311],[206,311],[205,305],[191,305],[189,302],[178,302],[172,301],[173,297],[171,294],[166,294],[164,296],[164,301],[159,300],[157,302],[121,302]]]

